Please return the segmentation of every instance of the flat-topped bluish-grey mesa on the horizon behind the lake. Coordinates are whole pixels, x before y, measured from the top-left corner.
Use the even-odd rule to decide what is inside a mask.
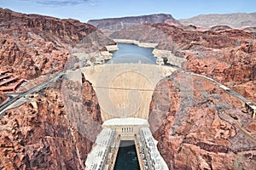
[[[89,20],[88,24],[96,26],[102,30],[120,30],[129,26],[146,24],[146,23],[169,23],[179,25],[171,14],[149,14],[142,16],[131,16],[123,18],[102,19],[102,20]]]

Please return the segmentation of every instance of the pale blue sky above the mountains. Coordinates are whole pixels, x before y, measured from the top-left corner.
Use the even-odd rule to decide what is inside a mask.
[[[0,0],[0,7],[82,22],[142,14],[172,14],[179,20],[199,14],[253,13],[256,0]]]

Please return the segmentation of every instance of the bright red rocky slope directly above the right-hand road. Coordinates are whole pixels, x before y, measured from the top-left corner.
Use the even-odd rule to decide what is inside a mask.
[[[245,42],[240,48],[227,48],[217,56],[190,55],[187,69],[213,77],[230,87],[253,81],[256,78],[254,49],[255,44]]]

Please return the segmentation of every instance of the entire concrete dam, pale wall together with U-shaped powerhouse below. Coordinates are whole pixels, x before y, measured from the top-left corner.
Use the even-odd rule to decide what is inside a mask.
[[[143,63],[91,65],[67,71],[72,81],[82,83],[83,74],[92,83],[104,122],[86,169],[113,169],[122,140],[134,141],[142,169],[168,169],[147,120],[155,85],[173,71],[176,68]]]

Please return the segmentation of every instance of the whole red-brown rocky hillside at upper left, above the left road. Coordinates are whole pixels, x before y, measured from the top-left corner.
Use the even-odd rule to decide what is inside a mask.
[[[0,8],[0,30],[0,66],[11,67],[15,74],[26,79],[63,70],[75,45],[97,31],[79,20],[20,14],[3,8]],[[97,31],[97,35],[88,42],[94,50],[113,43],[101,32]],[[94,42],[101,44],[95,48]]]

